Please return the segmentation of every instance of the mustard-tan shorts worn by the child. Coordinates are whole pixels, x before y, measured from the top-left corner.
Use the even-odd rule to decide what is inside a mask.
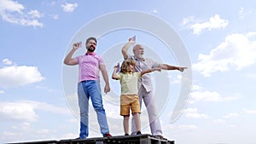
[[[120,115],[129,116],[131,113],[141,113],[140,101],[137,95],[121,95],[120,99]]]

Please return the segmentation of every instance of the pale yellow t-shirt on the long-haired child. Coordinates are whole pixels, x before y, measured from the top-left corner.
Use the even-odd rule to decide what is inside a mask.
[[[121,95],[137,95],[137,80],[141,78],[141,72],[119,72]]]

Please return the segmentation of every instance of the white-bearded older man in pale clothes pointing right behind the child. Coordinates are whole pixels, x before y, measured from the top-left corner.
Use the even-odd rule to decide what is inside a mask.
[[[154,61],[149,58],[143,57],[144,49],[141,44],[137,44],[133,47],[133,54],[128,54],[128,49],[131,47],[131,44],[134,43],[134,38],[129,38],[129,42],[125,43],[125,46],[122,48],[122,54],[124,59],[132,59],[136,60],[137,65],[135,66],[136,72],[142,72],[143,70],[147,70],[148,68],[160,67],[163,70],[178,70],[183,72],[186,67],[179,66],[170,66],[167,64],[160,64],[157,61]],[[140,105],[142,107],[142,100],[144,101],[145,106],[148,111],[148,118],[150,123],[150,130],[152,135],[163,138],[163,132],[160,125],[160,119],[158,118],[158,113],[156,111],[156,106],[154,104],[154,89],[153,84],[151,82],[150,74],[143,75],[142,78],[138,80],[138,95],[140,99]],[[136,134],[134,120],[132,119],[131,124],[131,135]]]

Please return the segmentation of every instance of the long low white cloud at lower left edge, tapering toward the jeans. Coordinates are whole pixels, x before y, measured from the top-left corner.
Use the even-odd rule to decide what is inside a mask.
[[[36,121],[37,111],[69,115],[67,108],[56,107],[39,101],[0,102],[0,120]]]

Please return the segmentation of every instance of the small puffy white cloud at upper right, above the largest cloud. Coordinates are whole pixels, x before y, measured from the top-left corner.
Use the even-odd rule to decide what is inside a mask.
[[[229,20],[221,19],[218,14],[212,16],[207,22],[200,23],[195,21],[196,20],[192,16],[183,19],[183,25],[190,25],[189,28],[193,29],[194,34],[200,34],[206,29],[211,31],[212,29],[224,28],[229,24]]]

